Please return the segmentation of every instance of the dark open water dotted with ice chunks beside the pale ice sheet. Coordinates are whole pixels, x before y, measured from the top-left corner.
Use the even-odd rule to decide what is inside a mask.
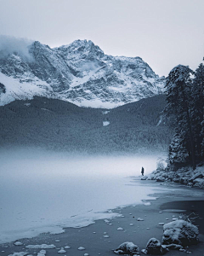
[[[147,200],[144,204],[134,207],[118,207],[112,211],[120,215],[119,218],[97,220],[94,224],[79,229],[67,228],[64,233],[58,235],[42,234],[31,239],[21,239],[16,245],[14,242],[0,245],[0,251],[5,256],[42,255],[42,253],[47,253],[48,256],[60,253],[76,256],[113,256],[116,255],[113,249],[124,241],[133,241],[139,247],[139,251],[146,247],[152,237],[161,241],[163,236],[161,223],[167,224],[183,212],[189,214],[192,206],[201,218],[204,217],[201,208],[203,190],[180,187],[175,183],[167,186],[166,193],[161,193],[161,186],[158,183],[153,181],[140,183],[144,187],[151,185],[155,187],[156,201]],[[143,221],[139,221],[138,218],[143,218]],[[200,225],[200,243],[188,247],[188,252],[193,253],[194,256],[200,256],[203,252],[204,229],[201,218],[197,218],[195,222],[196,225]],[[179,256],[181,253],[183,252],[170,250],[167,255]]]

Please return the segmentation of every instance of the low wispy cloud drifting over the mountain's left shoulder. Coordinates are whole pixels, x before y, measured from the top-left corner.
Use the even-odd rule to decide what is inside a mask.
[[[5,58],[9,54],[17,53],[27,60],[32,59],[29,53],[29,46],[32,40],[26,38],[14,38],[10,36],[0,35],[0,58]]]

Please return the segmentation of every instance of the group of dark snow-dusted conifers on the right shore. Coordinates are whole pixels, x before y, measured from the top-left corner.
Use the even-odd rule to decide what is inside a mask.
[[[196,165],[204,160],[204,66],[195,72],[178,65],[167,77],[165,113],[173,116],[175,134],[169,146],[173,168]]]

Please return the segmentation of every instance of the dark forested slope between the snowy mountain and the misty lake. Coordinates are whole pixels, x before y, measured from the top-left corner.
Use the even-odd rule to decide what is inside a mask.
[[[164,105],[162,95],[106,112],[41,97],[15,101],[0,107],[0,143],[92,154],[161,152],[170,140],[167,126],[157,126]]]

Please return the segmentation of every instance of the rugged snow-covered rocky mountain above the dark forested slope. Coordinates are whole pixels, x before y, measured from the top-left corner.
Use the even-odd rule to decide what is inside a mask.
[[[162,93],[159,77],[140,57],[111,56],[92,41],[51,49],[37,41],[25,51],[0,49],[0,105],[46,96],[78,106],[114,108]]]

